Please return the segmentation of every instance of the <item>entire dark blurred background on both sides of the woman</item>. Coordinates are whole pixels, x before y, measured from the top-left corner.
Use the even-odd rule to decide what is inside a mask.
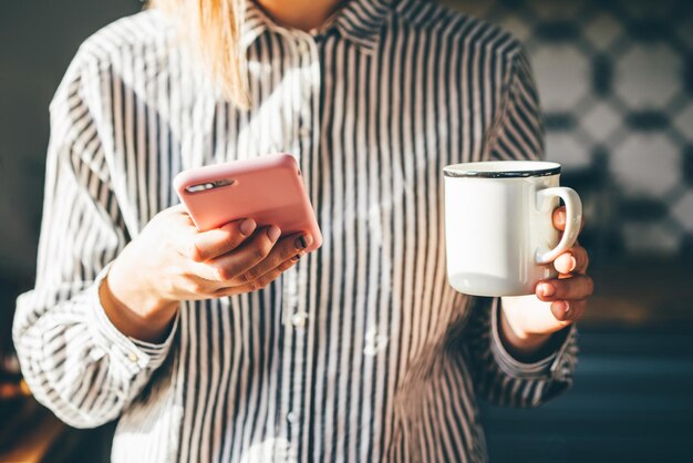
[[[536,410],[484,405],[492,462],[693,461],[693,2],[441,2],[525,43],[597,285],[575,387]],[[77,431],[39,407],[10,332],[33,286],[49,101],[79,44],[141,8],[0,6],[0,462],[108,461],[113,424]]]

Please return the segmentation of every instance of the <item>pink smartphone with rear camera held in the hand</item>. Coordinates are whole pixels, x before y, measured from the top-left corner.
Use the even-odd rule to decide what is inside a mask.
[[[313,243],[307,251],[322,245],[301,171],[290,154],[192,168],[176,175],[174,187],[200,232],[252,218],[258,228],[277,225],[282,235],[309,233]]]

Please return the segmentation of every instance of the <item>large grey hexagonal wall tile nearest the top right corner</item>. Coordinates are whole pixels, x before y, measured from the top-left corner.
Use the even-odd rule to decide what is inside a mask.
[[[683,63],[665,44],[642,44],[619,58],[616,78],[614,90],[630,107],[664,107],[682,89]]]

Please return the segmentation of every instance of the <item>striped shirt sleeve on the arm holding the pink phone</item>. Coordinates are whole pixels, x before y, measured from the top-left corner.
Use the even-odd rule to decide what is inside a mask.
[[[165,360],[161,344],[123,335],[99,299],[108,263],[127,243],[90,96],[101,88],[77,53],[51,103],[43,218],[33,290],[17,300],[13,340],[39,402],[68,424],[116,419]]]

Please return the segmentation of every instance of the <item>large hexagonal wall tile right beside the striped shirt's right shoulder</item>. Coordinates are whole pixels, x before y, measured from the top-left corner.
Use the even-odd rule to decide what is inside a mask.
[[[589,93],[589,61],[576,47],[544,44],[531,62],[544,109],[569,111]]]

